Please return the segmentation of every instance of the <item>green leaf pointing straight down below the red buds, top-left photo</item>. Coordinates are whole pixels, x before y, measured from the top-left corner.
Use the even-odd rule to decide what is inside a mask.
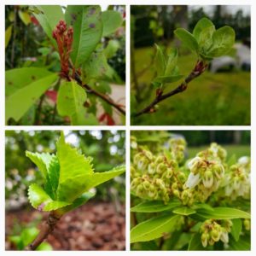
[[[84,102],[87,96],[83,88],[75,81],[61,84],[57,96],[57,110],[61,116],[68,116],[72,125],[86,125]]]

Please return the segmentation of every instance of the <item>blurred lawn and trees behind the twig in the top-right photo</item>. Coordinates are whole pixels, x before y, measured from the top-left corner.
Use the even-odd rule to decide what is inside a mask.
[[[178,48],[177,65],[188,75],[197,56],[190,53],[173,31],[183,27],[192,32],[202,17],[218,27],[232,26],[236,44],[229,57],[241,63],[247,55],[249,67],[228,63],[217,73],[207,71],[189,84],[188,90],[160,102],[156,113],[132,118],[134,125],[249,125],[250,124],[250,44],[251,16],[249,6],[226,5],[133,5],[131,6],[131,114],[145,108],[155,96],[154,44],[165,49]],[[246,53],[242,50],[246,48]],[[211,65],[210,65],[211,66]],[[247,65],[246,65],[247,66]],[[172,90],[179,83],[168,87]]]

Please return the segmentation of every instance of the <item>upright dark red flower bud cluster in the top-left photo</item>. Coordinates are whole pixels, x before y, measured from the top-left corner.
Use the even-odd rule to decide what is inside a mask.
[[[72,51],[73,44],[73,27],[67,28],[64,20],[60,20],[55,30],[52,32],[52,37],[55,38],[59,55],[61,58],[61,78],[69,80],[69,55]]]

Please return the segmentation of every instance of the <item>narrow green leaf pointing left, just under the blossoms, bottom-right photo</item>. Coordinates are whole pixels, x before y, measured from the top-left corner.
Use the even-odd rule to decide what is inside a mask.
[[[163,212],[180,206],[180,202],[164,204],[162,201],[145,201],[131,208],[131,212]]]

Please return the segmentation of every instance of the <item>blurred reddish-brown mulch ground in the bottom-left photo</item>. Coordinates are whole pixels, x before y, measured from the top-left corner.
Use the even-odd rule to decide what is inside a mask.
[[[6,237],[12,234],[16,220],[28,224],[41,214],[45,219],[38,211],[7,212]],[[47,241],[54,250],[125,250],[125,206],[118,213],[111,203],[89,202],[64,215]],[[15,249],[7,239],[5,248]]]

